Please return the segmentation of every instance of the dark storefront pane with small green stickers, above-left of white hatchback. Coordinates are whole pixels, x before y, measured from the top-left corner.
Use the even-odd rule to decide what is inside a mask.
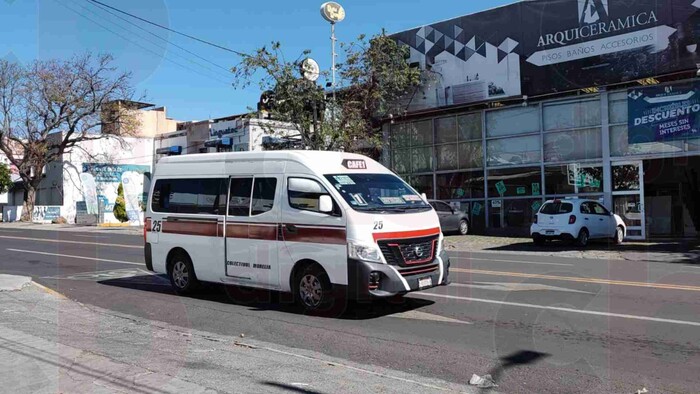
[[[541,174],[539,167],[489,170],[489,197],[539,196]]]

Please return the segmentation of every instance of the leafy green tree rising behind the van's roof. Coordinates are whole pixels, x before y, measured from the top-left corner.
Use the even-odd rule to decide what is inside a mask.
[[[301,75],[304,51],[288,62],[279,42],[243,56],[232,68],[234,85],[258,84],[269,92],[273,119],[290,123],[299,132],[303,147],[315,150],[368,151],[381,146],[381,124],[388,114],[403,114],[401,98],[412,94],[421,82],[418,68],[408,65],[408,47],[400,46],[384,32],[367,40],[341,44],[345,61],[338,65],[337,102],[316,83]],[[328,79],[329,73],[321,76]],[[274,123],[266,130],[274,134]]]

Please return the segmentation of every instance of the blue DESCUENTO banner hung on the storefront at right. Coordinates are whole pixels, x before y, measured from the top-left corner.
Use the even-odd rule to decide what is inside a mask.
[[[630,144],[700,137],[700,85],[636,88],[627,96]]]

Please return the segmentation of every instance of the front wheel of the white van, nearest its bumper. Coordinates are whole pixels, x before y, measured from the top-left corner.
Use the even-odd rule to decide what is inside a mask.
[[[328,274],[316,264],[308,265],[297,276],[294,295],[306,312],[318,312],[334,303]]]

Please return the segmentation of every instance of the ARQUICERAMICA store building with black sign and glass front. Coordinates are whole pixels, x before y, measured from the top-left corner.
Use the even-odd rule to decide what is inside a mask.
[[[396,34],[434,77],[386,119],[385,164],[476,233],[527,235],[545,200],[585,197],[631,239],[696,237],[695,4],[539,0]]]

